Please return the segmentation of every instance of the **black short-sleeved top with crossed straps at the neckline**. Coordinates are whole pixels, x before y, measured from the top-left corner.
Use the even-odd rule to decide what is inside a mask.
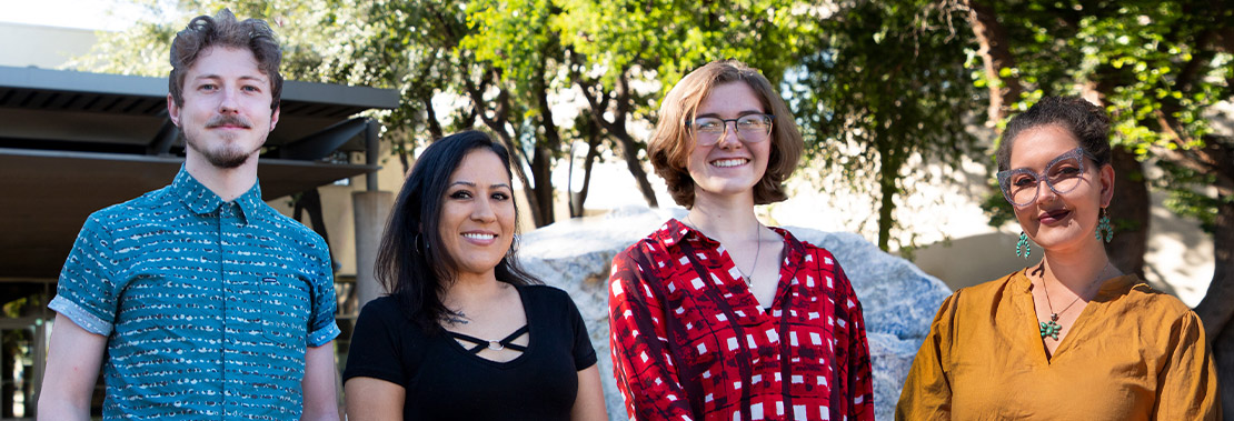
[[[366,377],[402,386],[404,420],[569,420],[578,372],[596,364],[587,328],[563,290],[518,286],[518,295],[527,326],[495,341],[522,352],[508,362],[476,354],[490,341],[426,333],[396,298],[373,300],[355,321],[343,381]],[[520,335],[528,335],[526,347],[510,343]]]

